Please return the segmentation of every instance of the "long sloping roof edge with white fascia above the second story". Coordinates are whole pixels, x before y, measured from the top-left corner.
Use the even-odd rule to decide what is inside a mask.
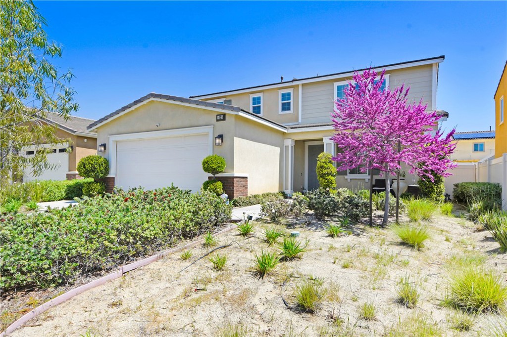
[[[442,62],[442,61],[444,61],[444,59],[445,59],[445,55],[441,55],[441,56],[437,56],[437,57],[430,57],[430,58],[427,58],[427,59],[420,59],[420,60],[406,61],[406,62],[399,62],[399,63],[391,63],[391,64],[386,64],[386,65],[381,65],[381,66],[371,67],[371,68],[373,68],[373,69],[388,68],[388,67],[402,68],[401,66],[410,65],[410,64],[412,64],[411,66],[416,66],[416,65],[419,65],[419,64],[430,64],[430,63],[434,63],[434,62]],[[369,68],[363,68],[363,69],[348,70],[348,71],[343,71],[343,72],[336,72],[336,73],[327,74],[327,75],[317,75],[317,76],[305,77],[305,78],[295,78],[293,80],[288,80],[288,81],[284,81],[284,82],[282,81],[282,82],[270,83],[270,84],[267,84],[267,85],[261,85],[261,86],[255,86],[255,87],[247,87],[247,88],[241,88],[241,89],[227,90],[227,91],[221,91],[221,92],[217,92],[217,93],[204,94],[204,95],[195,95],[195,96],[190,96],[190,98],[197,98],[197,97],[203,98],[203,97],[207,97],[207,96],[215,96],[215,95],[227,94],[227,93],[232,93],[232,92],[237,92],[237,91],[244,91],[244,90],[253,91],[255,89],[260,89],[260,88],[265,88],[265,87],[273,87],[273,86],[276,86],[276,87],[290,86],[290,85],[293,85],[293,84],[299,84],[300,82],[313,82],[313,81],[317,81],[317,80],[328,79],[326,77],[333,77],[333,76],[336,77],[336,76],[339,76],[339,75],[343,75],[341,77],[346,77],[349,74],[353,74],[355,71],[364,71],[364,70],[367,70],[367,69],[370,69],[370,67]]]

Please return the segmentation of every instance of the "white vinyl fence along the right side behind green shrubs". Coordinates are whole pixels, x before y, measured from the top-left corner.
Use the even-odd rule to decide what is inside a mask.
[[[502,187],[503,208],[507,209],[507,153],[499,158],[486,157],[479,162],[460,162],[449,171],[445,192],[452,195],[454,184],[463,182],[498,183]]]

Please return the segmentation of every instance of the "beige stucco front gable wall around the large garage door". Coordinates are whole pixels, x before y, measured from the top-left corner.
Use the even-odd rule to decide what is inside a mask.
[[[99,127],[97,142],[107,144],[102,155],[110,158],[108,136],[214,125],[213,137],[224,135],[224,142],[222,146],[213,146],[213,154],[223,156],[227,162],[226,172],[233,173],[235,115],[227,114],[225,121],[216,122],[218,113],[220,112],[170,102],[150,101]]]

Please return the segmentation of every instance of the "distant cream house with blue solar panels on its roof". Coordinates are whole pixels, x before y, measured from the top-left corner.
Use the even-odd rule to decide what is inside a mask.
[[[456,132],[453,136],[456,149],[451,159],[476,162],[495,154],[495,131]]]

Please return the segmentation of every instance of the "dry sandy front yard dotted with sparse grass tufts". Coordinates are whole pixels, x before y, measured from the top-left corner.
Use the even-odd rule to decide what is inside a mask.
[[[230,326],[253,336],[475,336],[504,324],[501,315],[480,314],[467,317],[473,321],[469,331],[459,331],[463,314],[441,304],[457,261],[484,261],[505,280],[506,256],[472,222],[434,217],[425,223],[431,238],[420,251],[400,244],[388,228],[355,225],[351,235],[332,238],[325,224],[307,215],[276,225],[287,233],[300,231],[307,251],[264,278],[253,273],[255,254],[278,248],[268,247],[263,235],[275,225],[258,222],[251,237],[236,230],[218,237],[217,246],[231,244],[217,250],[228,257],[224,271],[213,270],[208,257],[188,267],[216,247],[199,246],[187,261],[177,253],[139,268],[45,312],[12,335],[213,336],[224,335]],[[414,309],[397,301],[397,285],[407,276],[421,294]],[[296,287],[316,278],[327,290],[323,302],[315,313],[301,311]],[[361,317],[365,304],[373,305],[373,319]]]

